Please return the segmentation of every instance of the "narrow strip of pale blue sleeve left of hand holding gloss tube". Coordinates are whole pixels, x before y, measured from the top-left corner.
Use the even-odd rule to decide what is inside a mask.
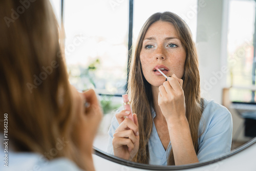
[[[118,110],[119,111],[119,110]],[[118,112],[116,112],[117,114]],[[110,125],[110,129],[109,129],[109,139],[108,139],[108,147],[106,149],[106,153],[109,153],[111,155],[114,155],[114,151],[113,151],[113,145],[112,145],[112,141],[113,141],[113,135],[117,129],[117,127],[119,126],[119,123],[116,119],[116,114],[114,115],[114,117],[111,120],[111,125]]]

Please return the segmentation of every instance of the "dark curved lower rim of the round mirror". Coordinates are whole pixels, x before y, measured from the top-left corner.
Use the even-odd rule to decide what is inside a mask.
[[[115,162],[115,163],[118,163],[118,164],[121,164],[121,165],[129,166],[129,167],[147,169],[147,170],[180,170],[180,169],[188,169],[188,168],[197,168],[197,167],[200,167],[200,166],[216,163],[216,162],[221,161],[223,159],[226,159],[230,156],[234,156],[234,155],[239,154],[244,149],[250,147],[253,144],[256,144],[256,137],[254,137],[253,139],[251,139],[247,143],[241,145],[240,147],[234,149],[233,151],[231,151],[227,155],[222,156],[220,158],[210,160],[210,161],[206,161],[206,162],[199,162],[199,163],[195,163],[195,164],[186,164],[186,165],[179,165],[179,166],[162,166],[162,165],[150,165],[150,164],[136,163],[136,162],[127,161],[127,160],[121,159],[119,157],[110,155],[106,152],[101,151],[101,149],[99,149],[95,146],[93,146],[93,149],[94,149],[94,154],[95,155],[97,155],[97,156],[99,156],[103,159],[106,159],[106,160],[109,160],[109,161],[112,161],[112,162]]]

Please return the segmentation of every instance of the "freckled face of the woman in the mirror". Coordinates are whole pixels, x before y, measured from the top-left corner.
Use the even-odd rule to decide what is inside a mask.
[[[165,77],[155,69],[157,66],[166,76],[176,74],[182,78],[186,52],[172,23],[158,21],[146,31],[140,52],[142,72],[152,86],[159,87]]]

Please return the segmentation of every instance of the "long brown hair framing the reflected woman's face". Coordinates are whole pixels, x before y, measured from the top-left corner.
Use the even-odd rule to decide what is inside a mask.
[[[140,51],[142,41],[147,29],[157,21],[172,23],[178,33],[181,43],[186,51],[185,71],[183,79],[183,91],[186,104],[186,117],[189,123],[190,133],[196,153],[198,152],[198,130],[199,122],[203,112],[203,100],[200,98],[200,77],[198,69],[198,57],[195,44],[192,40],[190,29],[183,19],[172,12],[155,13],[150,16],[140,30],[134,55],[130,63],[128,91],[131,96],[133,112],[138,115],[139,122],[139,151],[134,161],[148,164],[148,140],[152,132],[153,118],[151,106],[153,95],[151,84],[143,76],[140,62]],[[167,160],[168,165],[175,165],[173,149],[171,149]]]

